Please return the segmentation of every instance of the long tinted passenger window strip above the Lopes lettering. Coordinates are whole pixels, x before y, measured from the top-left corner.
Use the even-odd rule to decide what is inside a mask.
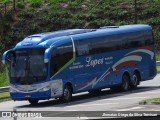
[[[153,43],[151,32],[132,32],[75,41],[78,56],[142,47]]]

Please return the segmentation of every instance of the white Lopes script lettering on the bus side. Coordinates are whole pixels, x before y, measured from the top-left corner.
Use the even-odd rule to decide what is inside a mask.
[[[87,62],[87,65],[86,67],[95,67],[96,65],[101,65],[104,63],[104,58],[101,58],[101,59],[92,59],[91,56],[89,57],[86,57],[86,62]]]

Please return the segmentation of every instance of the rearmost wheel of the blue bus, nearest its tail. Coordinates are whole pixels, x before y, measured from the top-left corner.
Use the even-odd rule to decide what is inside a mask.
[[[131,81],[131,88],[137,88],[137,85],[139,84],[140,81],[140,77],[138,75],[138,73],[134,72],[133,76],[132,76],[132,81]]]

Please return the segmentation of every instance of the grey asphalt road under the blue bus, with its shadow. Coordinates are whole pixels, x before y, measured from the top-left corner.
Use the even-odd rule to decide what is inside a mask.
[[[128,92],[114,92],[105,89],[96,96],[85,92],[74,95],[70,103],[49,100],[40,101],[36,106],[31,106],[27,101],[7,101],[0,103],[0,111],[13,111],[13,108],[17,111],[48,111],[43,114],[43,118],[37,117],[34,119],[53,120],[53,118],[48,117],[57,116],[54,117],[55,120],[78,120],[88,119],[88,115],[96,116],[98,112],[94,111],[160,111],[160,105],[139,105],[141,100],[154,97],[160,97],[160,75],[157,75],[153,80],[141,82],[136,90],[130,90]],[[86,111],[86,113],[77,111]],[[66,117],[67,115],[72,117]],[[1,119],[10,120],[13,118]],[[17,119],[22,118],[18,117]],[[33,118],[23,119],[31,120]]]

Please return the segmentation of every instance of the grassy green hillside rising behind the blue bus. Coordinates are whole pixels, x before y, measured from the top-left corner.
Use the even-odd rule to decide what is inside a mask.
[[[0,56],[35,33],[135,23],[134,0],[18,0],[16,9],[13,0],[0,0],[0,3]],[[153,27],[158,54],[159,8],[159,0],[137,0],[137,23]],[[157,60],[160,60],[160,55]],[[4,71],[0,63],[0,86],[8,84]]]

